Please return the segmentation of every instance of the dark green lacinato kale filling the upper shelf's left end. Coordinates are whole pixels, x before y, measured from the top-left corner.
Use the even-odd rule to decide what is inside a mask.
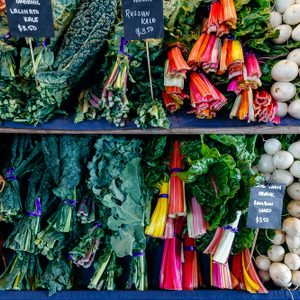
[[[37,124],[64,114],[63,102],[83,84],[116,17],[116,0],[51,4],[51,38],[12,37],[0,11],[0,120]]]

